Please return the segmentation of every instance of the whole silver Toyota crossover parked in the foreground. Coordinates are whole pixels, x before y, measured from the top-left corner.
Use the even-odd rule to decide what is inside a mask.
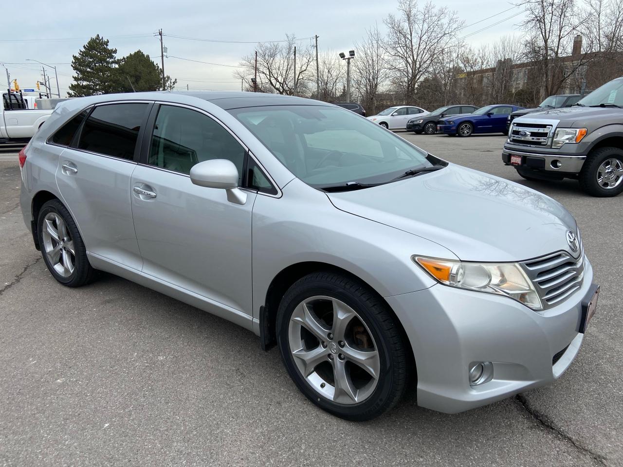
[[[60,284],[108,271],[229,319],[350,420],[412,380],[442,412],[553,382],[595,310],[561,204],[316,100],[77,98],[19,164],[24,221]]]

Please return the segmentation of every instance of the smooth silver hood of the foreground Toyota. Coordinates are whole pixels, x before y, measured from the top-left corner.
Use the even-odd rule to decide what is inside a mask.
[[[439,243],[465,261],[516,262],[568,251],[566,232],[576,232],[573,216],[548,196],[455,164],[327,196],[340,210]]]

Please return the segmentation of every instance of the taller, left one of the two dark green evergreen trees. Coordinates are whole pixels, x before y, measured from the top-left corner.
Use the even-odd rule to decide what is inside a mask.
[[[69,85],[69,97],[83,97],[118,92],[117,49],[108,47],[108,40],[96,35],[74,55],[74,83]]]

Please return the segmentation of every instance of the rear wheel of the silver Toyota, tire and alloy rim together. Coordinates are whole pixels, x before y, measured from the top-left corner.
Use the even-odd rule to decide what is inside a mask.
[[[59,200],[52,199],[42,205],[37,218],[37,236],[45,265],[62,285],[79,287],[95,278],[80,232],[69,210]]]

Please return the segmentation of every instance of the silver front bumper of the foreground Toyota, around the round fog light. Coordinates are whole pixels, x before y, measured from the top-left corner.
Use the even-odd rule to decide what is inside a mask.
[[[582,343],[591,281],[586,260],[581,288],[538,313],[510,298],[444,285],[386,297],[411,341],[418,405],[462,412],[556,380]],[[493,379],[470,386],[468,367],[480,361],[493,362]]]

